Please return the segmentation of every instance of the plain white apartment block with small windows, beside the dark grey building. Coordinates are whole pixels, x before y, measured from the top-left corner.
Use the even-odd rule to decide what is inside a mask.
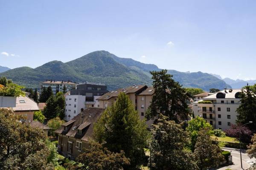
[[[65,117],[66,121],[70,121],[81,112],[81,108],[85,108],[85,96],[67,95],[65,97]]]

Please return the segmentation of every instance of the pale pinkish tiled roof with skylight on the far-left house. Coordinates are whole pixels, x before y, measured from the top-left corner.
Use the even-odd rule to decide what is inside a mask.
[[[19,96],[16,98],[16,107],[13,111],[39,111],[38,105],[34,100],[27,96]]]

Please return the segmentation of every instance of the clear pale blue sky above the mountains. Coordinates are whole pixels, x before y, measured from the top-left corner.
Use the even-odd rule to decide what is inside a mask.
[[[0,65],[97,50],[177,71],[256,79],[255,0],[0,0]]]

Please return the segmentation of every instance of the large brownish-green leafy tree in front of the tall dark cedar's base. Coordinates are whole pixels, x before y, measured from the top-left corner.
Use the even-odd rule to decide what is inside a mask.
[[[157,125],[153,125],[150,169],[198,170],[193,153],[185,149],[190,140],[188,133],[167,119],[160,114]]]

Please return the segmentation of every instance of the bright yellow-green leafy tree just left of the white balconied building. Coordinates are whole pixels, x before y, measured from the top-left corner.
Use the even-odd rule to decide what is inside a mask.
[[[212,125],[207,123],[204,118],[196,116],[195,119],[192,119],[188,122],[188,127],[186,127],[186,131],[189,133],[191,137],[190,148],[192,151],[195,149],[195,143],[197,141],[198,132],[202,129],[207,129],[208,134],[212,134]]]

